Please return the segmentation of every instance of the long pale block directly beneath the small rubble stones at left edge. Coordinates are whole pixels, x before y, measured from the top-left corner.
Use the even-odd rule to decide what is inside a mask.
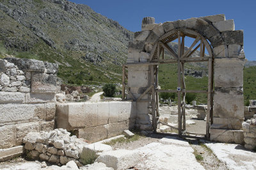
[[[21,104],[25,102],[25,93],[0,91],[0,104]]]

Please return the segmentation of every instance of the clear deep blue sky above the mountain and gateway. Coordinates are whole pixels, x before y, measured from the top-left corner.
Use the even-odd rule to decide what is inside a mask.
[[[244,30],[244,52],[248,60],[256,60],[256,1],[212,0],[71,0],[87,4],[97,13],[116,20],[130,31],[141,31],[143,17],[154,17],[156,23],[224,13],[234,19],[236,30]]]

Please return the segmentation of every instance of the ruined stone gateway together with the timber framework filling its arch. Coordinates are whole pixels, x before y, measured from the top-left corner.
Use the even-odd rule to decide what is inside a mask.
[[[136,32],[134,41],[129,43],[127,64],[123,68],[123,84],[129,91],[127,98],[136,101],[135,126],[156,132],[158,93],[175,92],[178,94],[179,134],[189,134],[185,123],[186,93],[207,93],[206,137],[211,141],[243,144],[243,30],[235,30],[234,20],[225,20],[225,15],[163,24],[156,24],[154,18],[146,17],[141,27],[142,31]],[[187,36],[195,40],[185,51]],[[173,40],[178,40],[178,53],[167,45]],[[198,42],[200,44],[195,47]],[[200,57],[189,58],[199,48]],[[172,58],[164,58],[164,50]],[[186,90],[184,63],[202,61],[208,63],[207,91]],[[177,63],[177,89],[158,88],[158,66],[164,63]]]

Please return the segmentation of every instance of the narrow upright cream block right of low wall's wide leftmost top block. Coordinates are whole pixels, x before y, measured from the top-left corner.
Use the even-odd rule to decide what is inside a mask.
[[[85,127],[95,127],[98,125],[97,103],[85,104]]]

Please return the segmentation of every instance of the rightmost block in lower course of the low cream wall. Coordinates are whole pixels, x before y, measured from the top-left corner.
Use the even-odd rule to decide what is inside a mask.
[[[129,121],[120,121],[106,125],[108,129],[108,138],[122,134],[124,130],[129,129]]]

